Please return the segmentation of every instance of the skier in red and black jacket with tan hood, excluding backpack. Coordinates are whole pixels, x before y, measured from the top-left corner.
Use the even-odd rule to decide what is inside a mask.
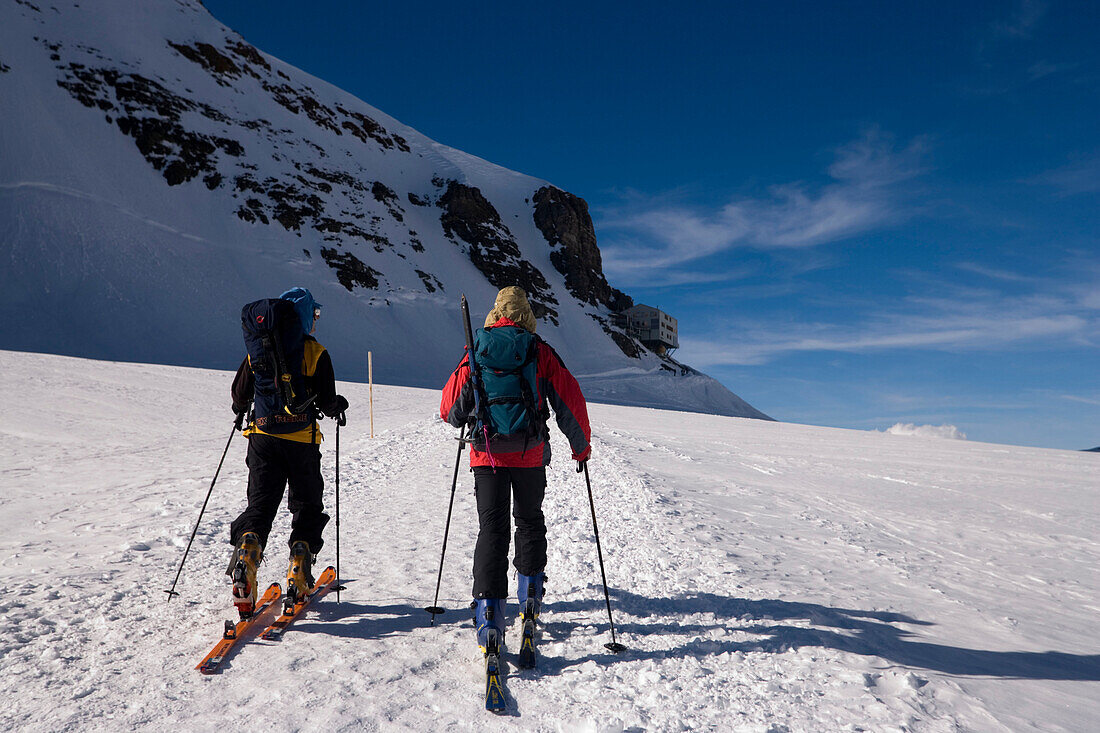
[[[485,319],[486,329],[526,329],[535,333],[535,315],[527,294],[519,287],[505,287]],[[498,631],[503,641],[505,600],[508,595],[509,503],[516,518],[514,565],[519,572],[520,619],[529,609],[538,616],[543,594],[547,564],[547,528],[542,514],[546,493],[546,466],[550,463],[550,433],[547,427],[553,407],[558,427],[569,439],[573,459],[588,460],[592,433],[587,405],[576,380],[565,369],[558,353],[546,341],[534,337],[537,349],[538,425],[534,437],[510,442],[493,442],[474,435],[470,466],[474,472],[480,532],[474,549],[473,597],[476,601],[477,643],[485,652],[488,628]],[[484,371],[484,370],[482,370]],[[492,397],[492,395],[490,395]],[[454,427],[466,425],[474,413],[474,390],[470,380],[469,354],[443,387],[440,416]],[[528,599],[534,599],[528,604]]]

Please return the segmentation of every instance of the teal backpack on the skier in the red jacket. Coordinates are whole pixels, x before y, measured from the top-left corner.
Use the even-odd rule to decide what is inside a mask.
[[[538,338],[516,326],[479,328],[474,361],[491,439],[532,438],[541,431],[538,405]]]

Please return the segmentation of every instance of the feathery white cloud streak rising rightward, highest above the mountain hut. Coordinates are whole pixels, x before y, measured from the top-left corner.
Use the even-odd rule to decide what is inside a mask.
[[[879,130],[835,151],[828,182],[785,183],[716,210],[629,201],[601,212],[604,266],[616,281],[645,284],[733,248],[811,248],[895,225],[909,216],[905,184],[926,171],[927,141],[899,147]]]

